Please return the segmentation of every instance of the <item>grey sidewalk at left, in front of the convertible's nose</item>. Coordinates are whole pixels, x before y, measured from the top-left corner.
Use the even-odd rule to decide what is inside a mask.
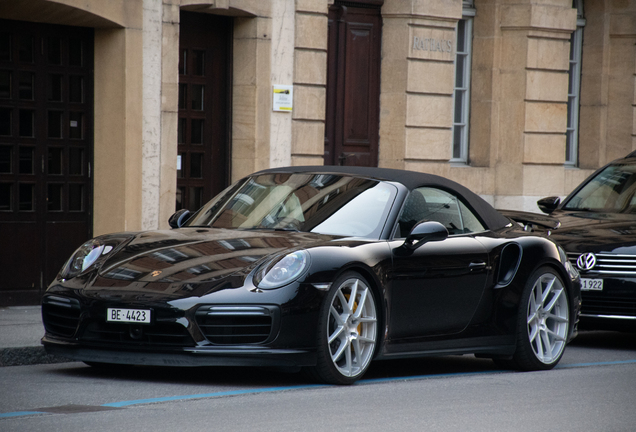
[[[0,307],[0,366],[69,361],[46,354],[42,336],[40,306]]]

